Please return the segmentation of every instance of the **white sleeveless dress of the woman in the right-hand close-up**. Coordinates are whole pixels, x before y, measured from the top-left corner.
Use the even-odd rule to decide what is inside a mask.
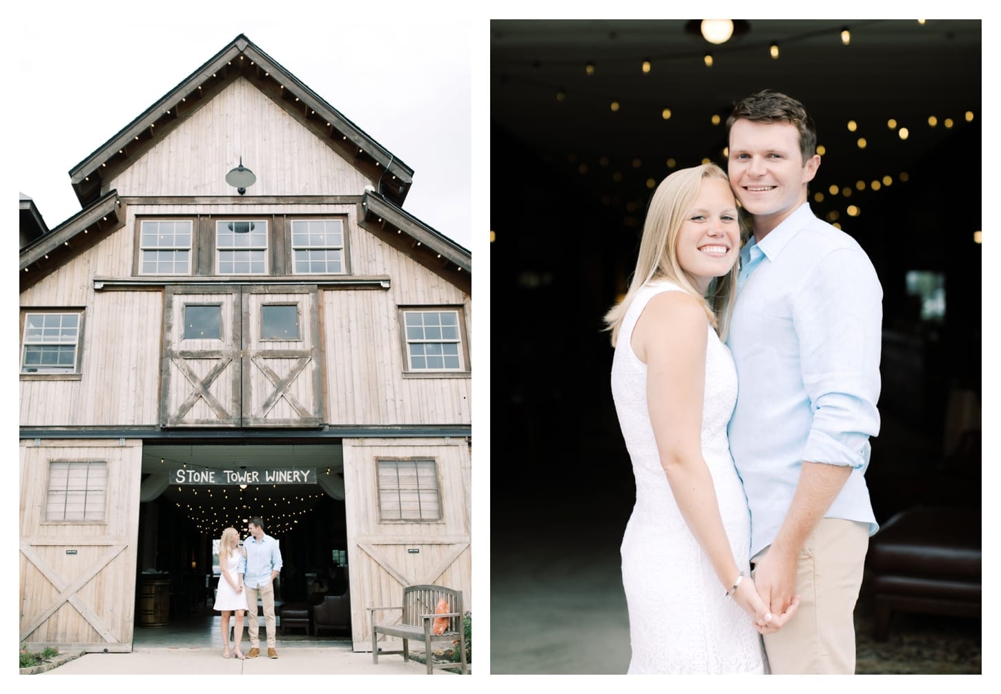
[[[751,617],[726,597],[661,467],[647,409],[647,365],[631,341],[647,303],[663,291],[681,290],[658,280],[637,293],[620,327],[612,365],[612,394],[636,477],[636,505],[622,544],[633,649],[629,673],[763,673],[761,636]],[[749,573],[751,517],[727,442],[737,372],[730,350],[712,327],[707,330],[702,452],[737,566]]]

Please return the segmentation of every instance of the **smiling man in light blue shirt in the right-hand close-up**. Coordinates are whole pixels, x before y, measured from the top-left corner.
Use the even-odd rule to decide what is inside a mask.
[[[729,174],[753,238],[728,343],[740,381],[728,433],[751,508],[752,576],[773,613],[773,673],[853,673],[853,613],[877,524],[863,477],[879,433],[883,290],[858,243],[817,219],[820,166],[803,105],[763,91],[727,121]]]

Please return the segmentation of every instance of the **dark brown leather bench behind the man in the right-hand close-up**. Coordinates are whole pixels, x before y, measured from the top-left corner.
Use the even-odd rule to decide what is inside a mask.
[[[981,616],[981,509],[916,506],[869,542],[877,641],[894,612]]]

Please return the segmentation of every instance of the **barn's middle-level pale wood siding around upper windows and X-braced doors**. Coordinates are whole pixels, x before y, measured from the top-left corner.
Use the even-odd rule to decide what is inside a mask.
[[[323,421],[338,425],[468,424],[471,421],[468,376],[404,377],[397,309],[399,306],[459,307],[465,322],[463,339],[467,340],[472,330],[469,296],[359,228],[356,210],[355,205],[341,204],[130,205],[122,229],[21,294],[22,307],[83,306],[85,309],[81,378],[22,380],[21,425],[157,423],[162,292],[95,291],[92,280],[132,276],[137,216],[183,217],[199,213],[346,215],[347,253],[353,274],[387,275],[390,289],[319,292]],[[266,278],[262,281],[266,282]],[[197,278],[192,278],[192,283],[197,282]],[[471,354],[471,346],[466,347]],[[207,412],[200,414],[209,416]],[[278,414],[280,411],[275,413]],[[291,416],[290,412],[285,414]]]

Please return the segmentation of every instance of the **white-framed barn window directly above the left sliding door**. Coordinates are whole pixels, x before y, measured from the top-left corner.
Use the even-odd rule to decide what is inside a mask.
[[[83,312],[25,313],[21,373],[78,373]]]

